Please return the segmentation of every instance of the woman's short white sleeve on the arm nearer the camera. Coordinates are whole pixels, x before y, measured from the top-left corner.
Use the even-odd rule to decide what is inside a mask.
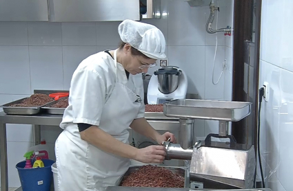
[[[105,81],[90,69],[74,72],[70,87],[74,123],[99,126],[105,104]]]

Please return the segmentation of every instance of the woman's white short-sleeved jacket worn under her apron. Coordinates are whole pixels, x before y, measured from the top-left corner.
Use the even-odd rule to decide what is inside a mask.
[[[141,107],[137,118],[144,117],[143,80],[141,74],[130,74],[127,79],[123,65],[117,63],[117,79],[134,92],[141,89]],[[70,123],[84,123],[99,126],[103,106],[115,85],[114,59],[106,52],[99,52],[85,58],[74,71],[70,85],[68,107],[63,114],[61,128]],[[119,98],[117,98],[119,99]],[[119,108],[119,105],[117,105]],[[115,108],[113,108],[115,109]],[[123,113],[121,113],[123,115]]]

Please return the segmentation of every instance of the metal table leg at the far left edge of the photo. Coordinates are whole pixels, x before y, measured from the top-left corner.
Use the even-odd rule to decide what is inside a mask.
[[[6,124],[0,124],[1,191],[8,191]]]

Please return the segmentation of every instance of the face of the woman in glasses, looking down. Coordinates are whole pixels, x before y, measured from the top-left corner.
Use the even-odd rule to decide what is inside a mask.
[[[135,75],[142,72],[146,73],[148,72],[150,65],[156,63],[156,60],[153,58],[132,55],[131,47],[128,48],[125,46],[123,48],[123,66],[130,74]]]

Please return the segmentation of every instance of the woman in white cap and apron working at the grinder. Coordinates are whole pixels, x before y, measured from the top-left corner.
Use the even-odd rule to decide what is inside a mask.
[[[105,190],[129,168],[130,159],[161,163],[165,148],[135,148],[128,127],[158,144],[160,135],[144,118],[142,72],[165,58],[162,32],[145,23],[125,20],[119,25],[119,49],[99,52],[81,62],[72,76],[69,106],[60,124],[55,153],[59,190]]]

